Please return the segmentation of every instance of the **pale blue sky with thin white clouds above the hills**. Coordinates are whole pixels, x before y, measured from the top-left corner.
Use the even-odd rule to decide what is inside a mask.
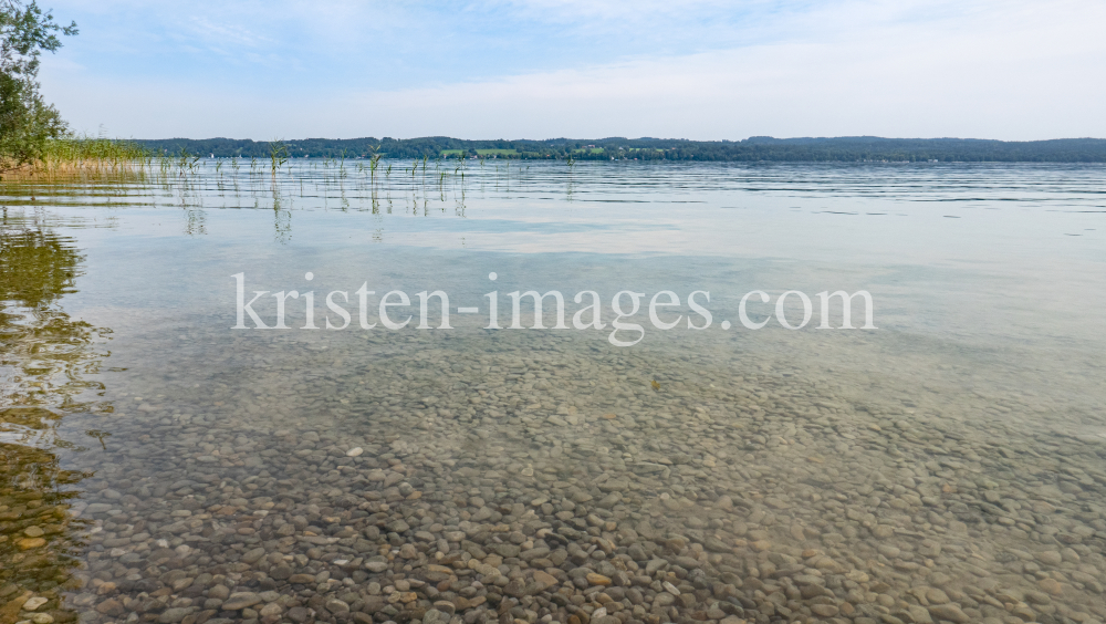
[[[40,4],[111,137],[1106,137],[1102,0]]]

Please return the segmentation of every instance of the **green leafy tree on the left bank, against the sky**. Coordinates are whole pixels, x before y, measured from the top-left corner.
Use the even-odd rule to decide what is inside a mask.
[[[39,93],[40,55],[61,48],[58,33],[77,33],[39,8],[36,0],[0,0],[0,160],[20,166],[42,157],[46,141],[65,132],[58,110]]]

